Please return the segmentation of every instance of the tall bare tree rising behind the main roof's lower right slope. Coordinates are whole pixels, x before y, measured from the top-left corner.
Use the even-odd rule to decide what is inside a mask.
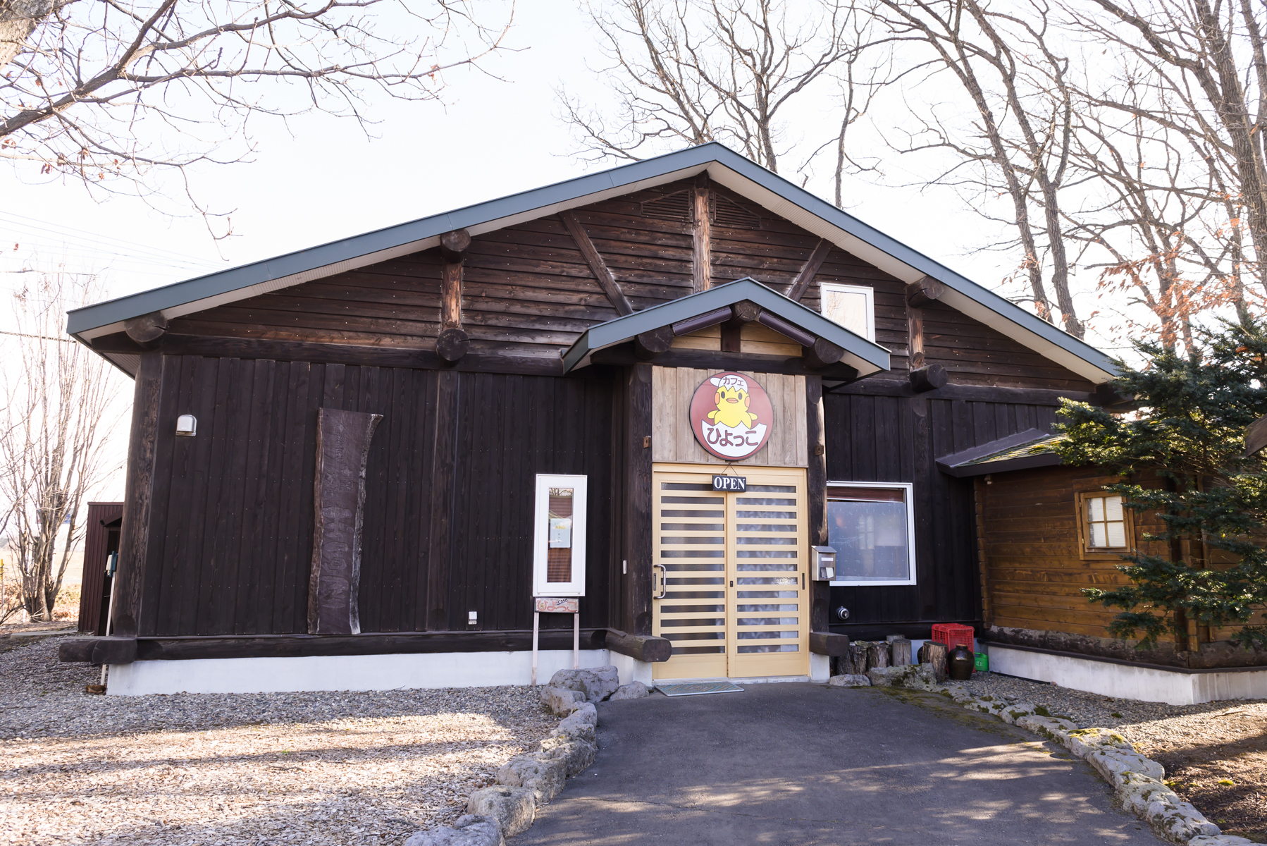
[[[949,79],[965,98],[912,108],[915,126],[896,148],[949,156],[930,181],[1007,225],[1015,235],[993,246],[1020,249],[1016,275],[1029,292],[1017,299],[1052,322],[1058,311],[1064,330],[1082,337],[1062,219],[1074,103],[1049,8],[1041,0],[997,9],[978,0],[879,0],[877,14],[905,42],[903,88]],[[992,211],[993,198],[1006,198],[1006,216]]]

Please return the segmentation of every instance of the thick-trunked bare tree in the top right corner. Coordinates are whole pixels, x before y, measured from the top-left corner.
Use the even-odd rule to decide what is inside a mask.
[[[1068,27],[1143,70],[1129,88],[1109,82],[1088,101],[1139,120],[1139,133],[1187,146],[1205,171],[1205,228],[1218,268],[1244,307],[1244,280],[1267,294],[1267,49],[1264,8],[1253,0],[1086,0],[1066,5]],[[1140,91],[1144,94],[1140,95]],[[1196,180],[1188,190],[1195,192]],[[1173,192],[1172,192],[1173,193]],[[1194,240],[1195,241],[1195,240]],[[1196,250],[1194,242],[1186,249]]]

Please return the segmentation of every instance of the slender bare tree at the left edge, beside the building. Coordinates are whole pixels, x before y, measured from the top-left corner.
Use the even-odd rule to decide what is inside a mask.
[[[10,364],[3,377],[0,502],[23,605],[33,619],[52,619],[84,534],[82,506],[118,469],[106,445],[125,410],[114,402],[127,397],[122,377],[62,335],[66,311],[100,294],[91,278],[51,273],[13,296],[16,331],[6,341]]]

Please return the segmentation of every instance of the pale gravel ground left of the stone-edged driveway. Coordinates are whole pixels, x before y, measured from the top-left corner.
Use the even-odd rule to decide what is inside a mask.
[[[0,653],[0,843],[399,843],[557,723],[532,687],[92,696],[58,641]]]

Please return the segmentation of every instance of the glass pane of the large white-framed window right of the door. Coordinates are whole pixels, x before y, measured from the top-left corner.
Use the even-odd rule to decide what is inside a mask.
[[[905,502],[827,502],[827,544],[836,550],[836,578],[911,577]]]

